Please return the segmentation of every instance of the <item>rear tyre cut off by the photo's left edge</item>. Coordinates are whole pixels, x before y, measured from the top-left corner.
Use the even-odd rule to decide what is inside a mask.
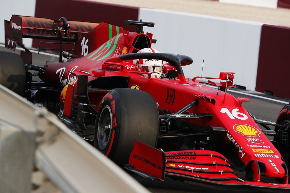
[[[18,54],[0,52],[0,84],[24,96],[26,71],[23,60]]]

